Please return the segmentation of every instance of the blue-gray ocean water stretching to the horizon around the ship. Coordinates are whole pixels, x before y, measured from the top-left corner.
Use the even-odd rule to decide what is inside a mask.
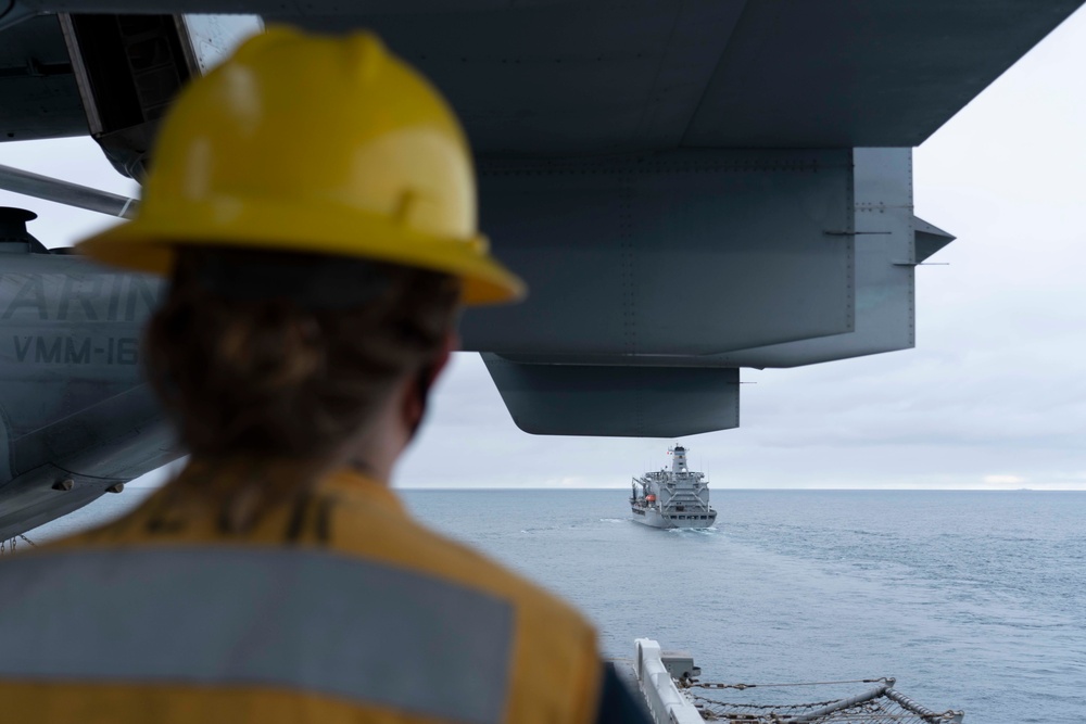
[[[402,494],[419,519],[571,600],[610,656],[649,636],[692,652],[703,681],[895,676],[965,722],[1086,721],[1086,493],[715,490],[717,526],[682,532],[631,521],[621,490]]]

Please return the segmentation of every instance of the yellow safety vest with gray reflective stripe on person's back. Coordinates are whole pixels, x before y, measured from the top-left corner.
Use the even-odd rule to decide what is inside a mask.
[[[188,474],[188,473],[182,473]],[[591,722],[569,606],[339,472],[244,536],[160,491],[0,562],[0,707],[35,723]]]

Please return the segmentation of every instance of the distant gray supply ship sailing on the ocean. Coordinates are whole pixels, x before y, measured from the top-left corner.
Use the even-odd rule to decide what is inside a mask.
[[[633,479],[630,509],[633,519],[653,528],[709,528],[717,511],[709,507],[705,473],[686,467],[686,448],[668,448],[671,470],[646,472]]]

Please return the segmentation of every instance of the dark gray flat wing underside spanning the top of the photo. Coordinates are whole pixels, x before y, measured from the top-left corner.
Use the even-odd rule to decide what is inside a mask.
[[[15,0],[0,13],[0,122],[22,139],[87,132],[53,13],[247,12],[378,30],[481,155],[915,147],[1079,4]]]

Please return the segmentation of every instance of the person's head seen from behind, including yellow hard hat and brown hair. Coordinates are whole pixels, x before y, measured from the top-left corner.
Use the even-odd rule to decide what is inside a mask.
[[[146,356],[197,456],[402,448],[458,306],[523,294],[478,231],[455,116],[370,34],[251,39],[181,92],[151,161],[137,218],[81,249],[171,277]]]

